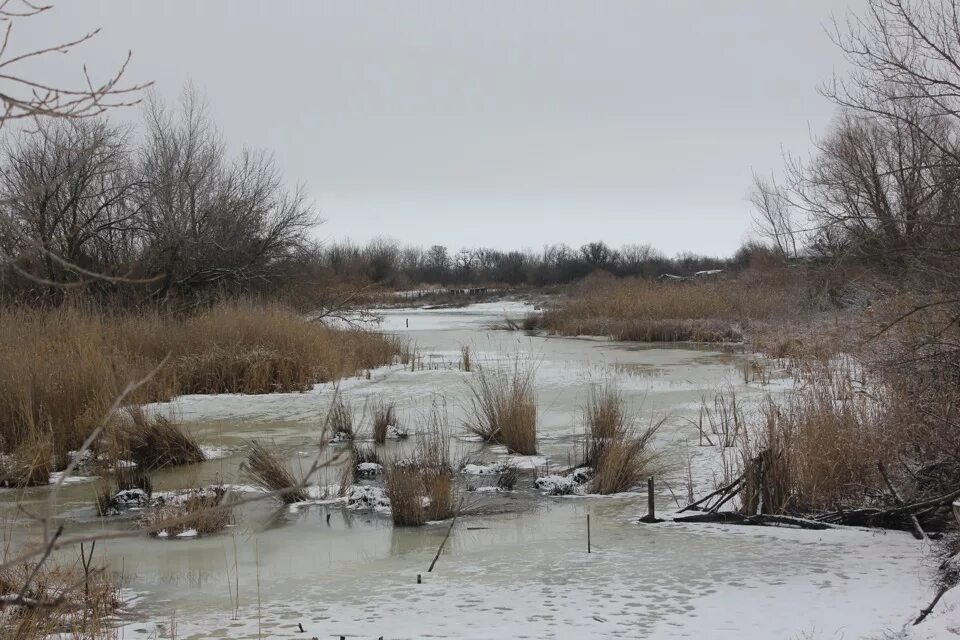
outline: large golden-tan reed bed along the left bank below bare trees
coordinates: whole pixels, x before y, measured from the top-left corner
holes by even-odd
[[[387,364],[396,339],[335,330],[269,304],[225,303],[188,317],[92,308],[0,311],[0,452],[63,468],[131,380],[170,360],[130,398],[300,391]],[[19,474],[23,476],[23,474]],[[21,480],[23,478],[21,477]],[[45,480],[43,480],[45,481]]]

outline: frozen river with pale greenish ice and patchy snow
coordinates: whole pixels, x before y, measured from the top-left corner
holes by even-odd
[[[699,446],[688,420],[701,400],[733,391],[749,412],[789,386],[776,376],[767,386],[745,383],[747,356],[727,351],[491,328],[529,311],[499,302],[385,312],[382,330],[407,336],[425,368],[375,370],[370,379],[345,381],[340,392],[358,419],[376,398],[395,402],[412,430],[432,406],[443,406],[454,454],[492,462],[506,452],[463,435],[465,380],[475,374],[459,370],[461,348],[470,347],[474,365],[532,363],[541,456],[526,462],[545,471],[579,452],[578,411],[591,384],[615,380],[641,422],[667,418],[656,441],[663,515],[685,501],[688,478],[698,494],[722,479],[723,452]],[[302,394],[186,396],[155,406],[220,455],[159,474],[155,486],[242,483],[242,443],[252,437],[281,448],[295,467],[308,465],[333,393],[332,385],[318,385]],[[735,454],[725,455],[729,463]],[[331,470],[320,482],[335,484],[337,476]],[[60,509],[72,531],[130,526],[97,518],[92,493],[92,483],[65,489]],[[401,529],[382,513],[267,500],[246,505],[225,534],[116,540],[98,545],[98,557],[122,571],[136,594],[127,638],[883,637],[929,598],[925,549],[909,534],[643,525],[645,495],[549,497],[532,477],[512,493],[476,495],[488,515],[460,518],[429,574],[447,523]],[[29,507],[43,490],[27,498]]]

